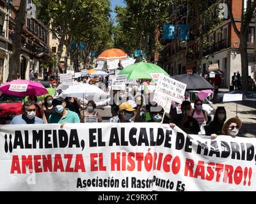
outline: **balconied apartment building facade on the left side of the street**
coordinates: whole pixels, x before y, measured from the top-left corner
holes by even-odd
[[[33,69],[35,72],[38,72],[38,79],[42,79],[44,77],[44,69],[42,64],[44,64],[44,62],[51,57],[51,49],[49,48],[49,27],[47,27],[42,20],[36,18],[36,8],[33,0],[26,1],[26,23],[22,30],[22,50],[20,54],[19,75],[20,79],[29,79],[29,70]],[[13,0],[12,4],[16,9],[18,9],[20,0]],[[7,61],[9,61],[10,54],[12,54],[12,37],[15,28],[15,13],[8,9],[8,4],[6,4],[6,1],[4,5],[6,6],[5,23],[7,26],[7,33],[5,34],[5,37],[8,43],[8,57],[6,57],[6,64],[4,64],[3,68],[2,83],[6,82],[8,78],[9,66]]]

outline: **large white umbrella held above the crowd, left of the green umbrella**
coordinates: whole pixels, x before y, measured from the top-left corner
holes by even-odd
[[[107,97],[108,94],[102,91],[99,87],[90,84],[79,84],[79,85],[72,85],[68,87],[65,91],[63,91],[60,96],[63,98],[65,97],[76,97],[76,98],[88,98],[88,96],[97,96],[100,98]]]

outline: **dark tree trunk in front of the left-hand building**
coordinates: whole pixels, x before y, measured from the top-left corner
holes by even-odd
[[[19,10],[15,11],[15,28],[12,38],[12,55],[9,63],[9,75],[7,81],[17,79],[20,68],[21,34],[25,24],[25,12],[27,1],[20,1]],[[19,73],[21,75],[21,73]]]

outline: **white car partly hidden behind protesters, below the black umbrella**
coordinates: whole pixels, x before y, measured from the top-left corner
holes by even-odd
[[[194,103],[195,100],[198,99],[197,94],[199,93],[199,91],[186,91],[186,100],[191,102],[191,106],[192,108],[194,108]],[[209,125],[209,123],[214,119],[214,114],[215,114],[215,109],[212,107],[212,102],[209,101],[207,98],[205,98],[203,101],[203,110],[207,113],[207,124]]]

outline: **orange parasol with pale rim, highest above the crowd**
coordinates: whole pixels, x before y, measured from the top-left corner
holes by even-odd
[[[112,48],[109,50],[105,50],[102,52],[102,54],[99,55],[98,61],[110,61],[110,60],[122,60],[122,59],[127,59],[129,56],[120,49]]]

